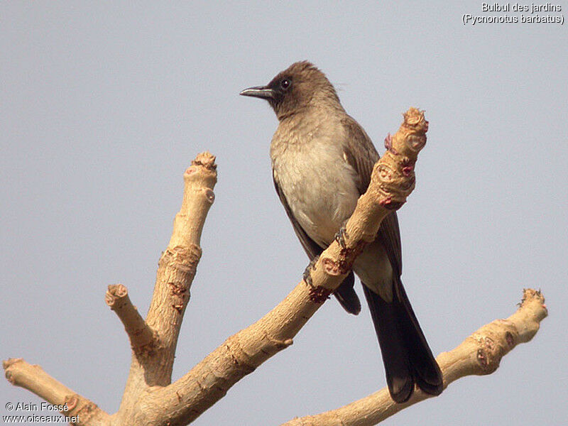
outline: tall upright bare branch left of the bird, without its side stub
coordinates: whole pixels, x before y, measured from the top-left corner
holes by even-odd
[[[184,192],[180,212],[175,215],[173,234],[158,263],[154,293],[146,324],[158,338],[151,351],[133,351],[129,378],[119,408],[119,421],[130,422],[140,407],[141,394],[152,386],[171,383],[175,347],[183,314],[190,300],[190,287],[200,261],[199,246],[207,212],[214,202],[217,183],[215,157],[197,155],[183,175]],[[132,423],[134,424],[134,423]],[[148,424],[148,423],[141,423]]]

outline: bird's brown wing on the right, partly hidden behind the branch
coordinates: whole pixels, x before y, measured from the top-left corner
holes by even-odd
[[[346,141],[344,143],[345,158],[347,162],[357,172],[357,188],[360,194],[364,194],[371,182],[373,166],[380,156],[371,142],[371,138],[351,116],[347,116],[343,123],[346,130]],[[388,254],[391,266],[400,275],[403,271],[403,256],[400,245],[400,229],[396,212],[388,214],[378,229],[377,239],[379,239]]]

